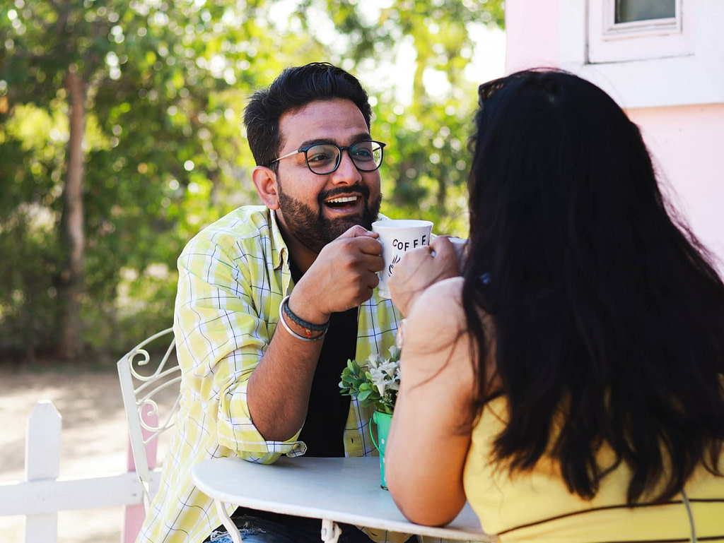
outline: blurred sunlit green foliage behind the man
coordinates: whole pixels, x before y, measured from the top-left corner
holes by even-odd
[[[63,280],[68,97],[88,90],[81,335],[113,359],[172,322],[183,245],[258,203],[241,129],[245,100],[286,66],[332,61],[358,75],[388,142],[383,212],[464,234],[476,85],[471,33],[503,24],[501,0],[9,0],[0,6],[0,351],[51,354]],[[412,101],[378,88],[403,44]],[[450,91],[432,97],[426,70]]]

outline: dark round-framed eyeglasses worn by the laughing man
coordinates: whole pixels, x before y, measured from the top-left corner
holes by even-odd
[[[334,143],[314,143],[275,158],[271,161],[271,164],[281,161],[282,158],[304,153],[309,171],[324,176],[332,174],[333,171],[340,167],[342,151],[346,150],[350,153],[350,158],[359,171],[375,171],[382,165],[382,155],[384,154],[382,150],[385,145],[387,144],[374,140],[363,140],[353,143],[349,147],[339,147]]]

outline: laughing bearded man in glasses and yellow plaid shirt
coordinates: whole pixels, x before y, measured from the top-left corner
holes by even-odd
[[[181,413],[139,541],[228,537],[190,479],[206,458],[371,454],[371,412],[337,386],[347,359],[387,352],[400,318],[374,291],[384,144],[370,119],[358,80],[330,64],[285,69],[252,96],[244,121],[264,206],[204,229],[178,260]],[[321,521],[241,509],[233,518],[245,543],[320,539]],[[340,542],[369,541],[343,527]]]

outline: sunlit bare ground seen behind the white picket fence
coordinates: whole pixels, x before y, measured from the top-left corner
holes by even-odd
[[[27,420],[40,400],[52,401],[63,418],[61,477],[126,471],[127,425],[115,366],[93,372],[0,367],[0,483],[25,478]],[[168,437],[159,443],[159,458]],[[61,511],[58,541],[119,542],[122,523],[121,506]],[[19,543],[24,537],[25,517],[0,516],[0,542]]]

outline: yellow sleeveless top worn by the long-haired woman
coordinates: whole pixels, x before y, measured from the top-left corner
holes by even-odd
[[[724,543],[724,477],[696,469],[683,493],[689,510],[683,495],[670,503],[628,508],[630,471],[622,463],[600,482],[592,500],[584,500],[568,492],[560,469],[548,457],[513,478],[492,466],[492,442],[505,427],[507,412],[505,397],[487,404],[473,429],[463,476],[481,526],[498,534],[501,543],[688,542],[693,540],[692,523],[699,542]],[[602,450],[598,458],[602,466],[613,463],[607,462],[613,459],[610,450]],[[719,465],[724,466],[724,458]]]

